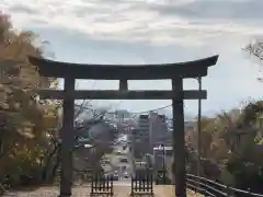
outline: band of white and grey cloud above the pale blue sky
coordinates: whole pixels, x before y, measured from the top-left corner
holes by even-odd
[[[100,39],[194,46],[215,39],[238,43],[261,34],[263,14],[254,8],[260,4],[259,0],[2,0],[0,9],[20,26],[66,27]]]

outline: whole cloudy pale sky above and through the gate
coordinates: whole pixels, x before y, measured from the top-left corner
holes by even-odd
[[[219,55],[203,88],[204,113],[263,95],[259,62],[241,48],[263,35],[262,0],[0,0],[15,27],[50,42],[57,60],[93,63],[176,62]],[[78,81],[79,89],[117,89],[117,82]],[[171,89],[170,81],[135,81],[130,89]],[[197,88],[186,80],[185,89]],[[145,111],[171,101],[108,101]],[[197,102],[185,102],[195,115]]]

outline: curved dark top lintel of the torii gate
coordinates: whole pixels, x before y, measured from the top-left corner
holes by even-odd
[[[174,78],[197,78],[207,76],[209,66],[216,65],[218,56],[187,62],[160,65],[83,65],[28,57],[38,66],[39,74],[52,78],[71,77],[94,80],[158,80]]]

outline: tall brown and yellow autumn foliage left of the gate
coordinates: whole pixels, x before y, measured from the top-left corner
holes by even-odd
[[[9,15],[0,14],[0,179],[35,175],[48,148],[45,131],[56,127],[56,104],[37,100],[37,90],[56,81],[41,78],[27,60],[43,55],[36,40],[33,32],[15,31]]]

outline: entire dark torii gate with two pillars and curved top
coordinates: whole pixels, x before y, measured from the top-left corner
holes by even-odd
[[[75,100],[172,100],[173,152],[175,164],[175,196],[186,197],[184,151],[184,100],[206,99],[206,91],[183,90],[183,79],[207,76],[209,66],[218,56],[188,62],[163,65],[80,65],[28,57],[39,69],[39,74],[64,78],[64,90],[41,90],[41,99],[64,100],[61,129],[61,183],[60,197],[71,196],[72,151],[75,146]],[[119,90],[75,90],[76,79],[119,80]],[[171,91],[129,91],[128,80],[171,79]]]

